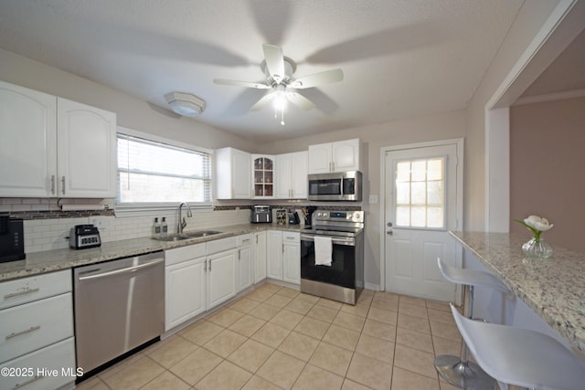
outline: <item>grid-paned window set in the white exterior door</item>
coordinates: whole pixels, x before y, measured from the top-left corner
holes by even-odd
[[[445,227],[445,158],[396,163],[397,227]]]

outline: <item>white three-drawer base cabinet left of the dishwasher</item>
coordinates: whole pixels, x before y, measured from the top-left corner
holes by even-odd
[[[6,281],[0,283],[0,294],[0,367],[8,370],[0,387],[30,390],[72,383],[71,271]]]

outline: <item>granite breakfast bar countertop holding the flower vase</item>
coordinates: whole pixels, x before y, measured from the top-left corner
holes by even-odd
[[[553,245],[548,259],[525,258],[521,247],[529,234],[451,234],[573,348],[585,353],[585,254]]]

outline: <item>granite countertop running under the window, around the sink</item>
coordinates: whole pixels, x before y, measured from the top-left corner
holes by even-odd
[[[87,264],[143,255],[157,250],[185,247],[187,245],[233,237],[264,230],[300,231],[300,225],[280,226],[276,224],[243,224],[230,227],[211,227],[205,230],[218,230],[221,233],[207,237],[188,238],[181,241],[158,241],[151,237],[124,239],[103,242],[101,247],[86,249],[55,249],[27,253],[24,260],[0,263],[0,281],[24,278],[61,269],[71,269]],[[195,229],[194,231],[197,231]],[[186,231],[188,233],[188,231]]]

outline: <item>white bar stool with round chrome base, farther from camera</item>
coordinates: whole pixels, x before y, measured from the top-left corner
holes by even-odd
[[[468,316],[473,319],[473,289],[475,286],[488,287],[500,290],[511,296],[512,292],[505,287],[500,279],[488,272],[473,269],[458,269],[443,263],[437,258],[437,264],[442,276],[457,284],[469,286]],[[462,346],[461,356],[442,354],[435,358],[435,369],[445,381],[463,389],[497,389],[497,382],[490,375],[485,374],[482,367],[469,361],[469,350],[465,343]]]

